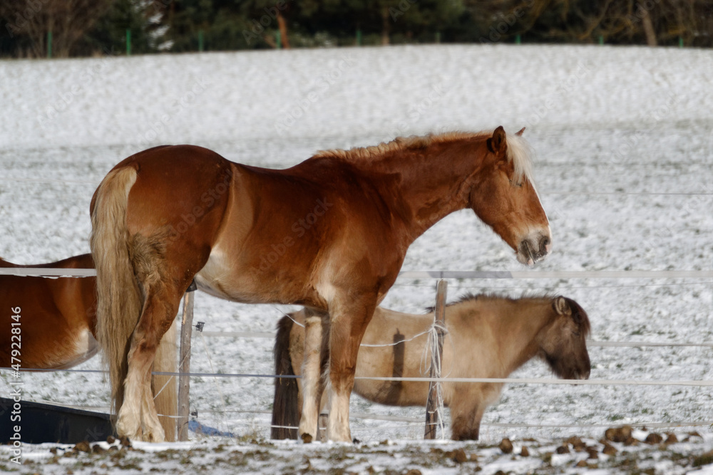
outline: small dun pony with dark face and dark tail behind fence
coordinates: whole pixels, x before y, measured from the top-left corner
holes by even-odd
[[[305,317],[302,310],[279,320],[276,375],[300,374]],[[433,323],[433,313],[410,315],[377,307],[361,340],[356,376],[428,376],[423,372],[423,357],[427,332]],[[570,298],[466,296],[446,307],[446,328],[450,342],[443,345],[444,377],[506,378],[533,357],[547,362],[558,377],[589,377],[585,343],[590,332],[589,318]],[[443,402],[451,408],[451,438],[477,440],[483,412],[498,399],[502,389],[502,382],[443,382]],[[356,379],[354,392],[379,404],[425,406],[429,383]],[[277,378],[272,406],[273,439],[297,439],[297,429],[287,427],[299,422],[301,405],[302,381]]]

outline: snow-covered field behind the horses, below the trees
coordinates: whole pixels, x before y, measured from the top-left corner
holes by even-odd
[[[237,162],[287,167],[324,148],[504,125],[509,132],[527,126],[553,230],[553,254],[533,273],[709,271],[711,75],[710,51],[603,46],[0,62],[0,256],[39,263],[87,252],[88,206],[96,185],[124,157],[153,145],[192,143]],[[472,212],[459,212],[411,246],[402,270],[523,267]],[[590,315],[594,343],[713,343],[712,279],[449,282],[449,299],[466,291],[549,291],[574,298]],[[420,312],[434,295],[435,281],[400,278],[383,305]],[[290,310],[202,293],[195,300],[195,320],[205,321],[209,332],[272,332]],[[193,371],[272,374],[270,338],[199,335]],[[710,380],[711,355],[704,346],[593,344],[591,378]],[[99,367],[95,359],[78,369]],[[549,374],[533,362],[513,377]],[[0,374],[1,394],[9,393],[8,380]],[[31,400],[89,407],[108,402],[108,387],[95,373],[25,374],[23,382]],[[198,420],[239,436],[269,435],[270,404],[270,378],[195,377],[191,383]],[[709,387],[512,384],[486,412],[481,439],[597,439],[615,424],[697,422],[703,423],[696,430],[704,438],[696,449],[711,449],[706,423],[713,422],[712,407]],[[419,421],[353,417],[353,436],[367,443],[423,434],[420,408],[377,407],[353,397],[352,413]]]

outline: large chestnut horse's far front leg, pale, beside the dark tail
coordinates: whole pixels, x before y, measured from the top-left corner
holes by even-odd
[[[309,308],[304,309],[304,357],[302,360],[302,417],[298,434],[309,444],[317,438],[319,401],[322,399],[322,360],[324,333],[329,331],[329,315]],[[326,323],[326,325],[325,325]],[[325,328],[327,326],[327,328]]]

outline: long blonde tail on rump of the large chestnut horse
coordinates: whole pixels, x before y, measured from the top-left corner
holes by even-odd
[[[111,408],[115,413],[124,399],[129,341],[143,306],[130,259],[126,224],[128,194],[135,181],[133,167],[109,172],[94,194],[91,214],[89,244],[96,266],[96,333],[103,362],[109,367]]]

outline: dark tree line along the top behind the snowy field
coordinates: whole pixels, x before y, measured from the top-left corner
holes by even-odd
[[[0,56],[404,43],[713,46],[709,0],[4,0]]]

